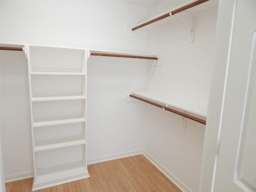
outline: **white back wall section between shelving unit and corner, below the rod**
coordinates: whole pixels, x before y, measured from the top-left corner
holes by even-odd
[[[89,59],[89,159],[143,148],[143,103],[126,102],[123,92],[144,88],[147,62],[92,56]]]

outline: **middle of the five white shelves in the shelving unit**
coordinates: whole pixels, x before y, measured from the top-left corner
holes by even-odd
[[[50,125],[61,125],[70,123],[86,122],[85,118],[72,118],[72,119],[62,119],[62,120],[49,120],[49,121],[36,121],[34,122],[34,127],[50,126]]]

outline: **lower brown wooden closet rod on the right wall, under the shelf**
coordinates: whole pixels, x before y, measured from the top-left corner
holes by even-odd
[[[169,108],[169,107],[166,107],[166,106],[163,106],[163,105],[154,103],[154,102],[152,102],[152,101],[149,101],[149,100],[146,100],[146,99],[143,99],[143,98],[134,96],[134,95],[132,95],[132,94],[130,94],[130,97],[136,98],[136,99],[138,99],[138,100],[144,101],[144,102],[149,103],[149,104],[152,104],[152,105],[157,106],[157,107],[159,107],[159,108],[162,108],[162,109],[164,109],[164,110],[167,110],[167,111],[176,113],[176,114],[178,114],[178,115],[180,115],[180,116],[186,117],[186,118],[188,118],[188,119],[194,120],[194,121],[199,122],[199,123],[202,123],[202,124],[204,124],[204,125],[206,124],[206,121],[205,121],[205,120],[202,120],[202,119],[200,119],[200,118],[194,117],[194,116],[192,116],[192,115],[189,115],[189,114],[186,114],[186,113],[183,113],[183,112],[174,110],[174,109],[172,109],[172,108]]]

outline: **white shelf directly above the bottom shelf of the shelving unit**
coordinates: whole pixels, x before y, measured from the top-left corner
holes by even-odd
[[[82,136],[35,141],[35,152],[86,144]]]

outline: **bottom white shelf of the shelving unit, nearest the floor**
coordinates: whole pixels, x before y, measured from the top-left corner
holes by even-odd
[[[72,162],[48,168],[41,168],[37,170],[38,175],[36,182],[63,178],[65,176],[79,174],[81,172],[87,172],[83,161]]]

